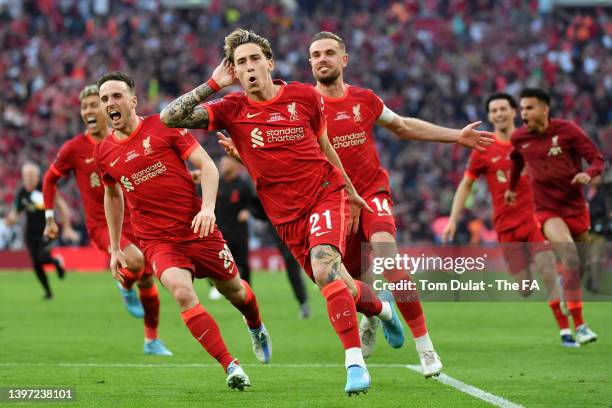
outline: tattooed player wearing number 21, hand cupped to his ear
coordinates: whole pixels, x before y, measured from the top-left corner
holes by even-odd
[[[170,127],[224,128],[233,136],[231,149],[251,175],[268,218],[326,299],[345,349],[345,391],[359,394],[369,388],[370,376],[357,309],[380,315],[395,347],[403,343],[403,329],[388,302],[343,270],[346,232],[358,222],[361,207],[369,207],[329,143],[320,96],[305,84],[273,81],[273,69],[269,41],[237,29],[225,38],[225,59],[212,78],[171,102],[162,121]],[[200,105],[236,79],[244,92]],[[230,148],[229,139],[221,142]]]

